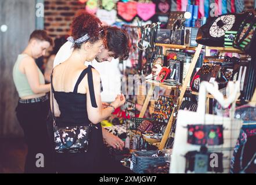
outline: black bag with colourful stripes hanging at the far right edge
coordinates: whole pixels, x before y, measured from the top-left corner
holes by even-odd
[[[251,11],[241,23],[237,35],[233,41],[233,47],[244,51],[251,57],[256,56],[256,13]]]

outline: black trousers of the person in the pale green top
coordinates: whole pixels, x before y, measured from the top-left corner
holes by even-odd
[[[49,99],[44,102],[18,103],[16,115],[28,146],[25,173],[55,173],[53,150],[46,127]]]

